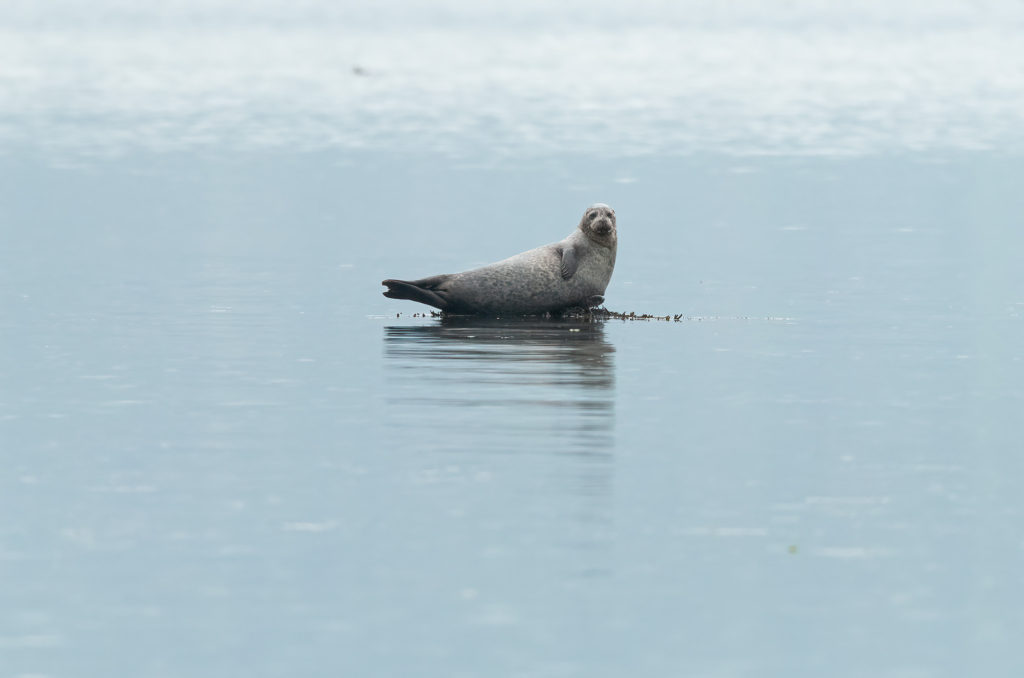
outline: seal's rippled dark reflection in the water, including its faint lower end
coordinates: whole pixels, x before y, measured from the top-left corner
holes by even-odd
[[[580,575],[600,575],[595,549],[610,546],[615,472],[615,347],[605,326],[453,315],[383,328],[391,452],[381,472],[422,468],[424,481],[446,488],[429,497],[452,498],[463,529],[493,521],[489,535],[505,534],[509,511],[528,498],[525,524],[555,521],[558,548],[580,550],[569,560]],[[407,452],[409,463],[395,461]]]

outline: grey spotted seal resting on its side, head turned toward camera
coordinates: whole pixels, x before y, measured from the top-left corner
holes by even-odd
[[[450,313],[544,313],[597,306],[615,267],[615,211],[591,205],[565,240],[461,273],[386,280],[385,297]]]

